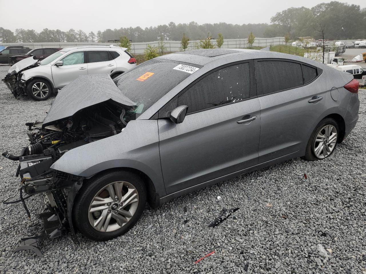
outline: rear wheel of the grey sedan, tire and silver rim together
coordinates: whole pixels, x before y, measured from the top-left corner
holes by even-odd
[[[338,137],[337,122],[332,118],[322,119],[311,133],[304,159],[316,161],[329,157],[336,149]]]

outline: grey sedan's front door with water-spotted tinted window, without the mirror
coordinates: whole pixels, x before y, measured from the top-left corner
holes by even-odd
[[[252,64],[234,64],[209,73],[159,112],[167,194],[257,164],[260,106],[251,81]],[[180,105],[188,106],[183,123],[161,119]]]

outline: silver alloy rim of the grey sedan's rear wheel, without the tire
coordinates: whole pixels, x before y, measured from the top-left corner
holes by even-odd
[[[337,142],[337,129],[333,125],[323,126],[317,133],[313,149],[315,156],[324,159],[334,150]]]

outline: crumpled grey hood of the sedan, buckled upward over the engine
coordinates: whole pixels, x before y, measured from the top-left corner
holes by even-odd
[[[79,76],[59,91],[43,121],[42,128],[56,121],[71,117],[79,110],[85,109],[107,100],[113,100],[125,106],[135,106],[117,88],[107,74]]]

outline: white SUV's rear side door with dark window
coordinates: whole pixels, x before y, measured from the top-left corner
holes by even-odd
[[[89,50],[87,57],[88,74],[110,75],[117,67],[116,61],[112,60],[112,56],[107,50]]]

